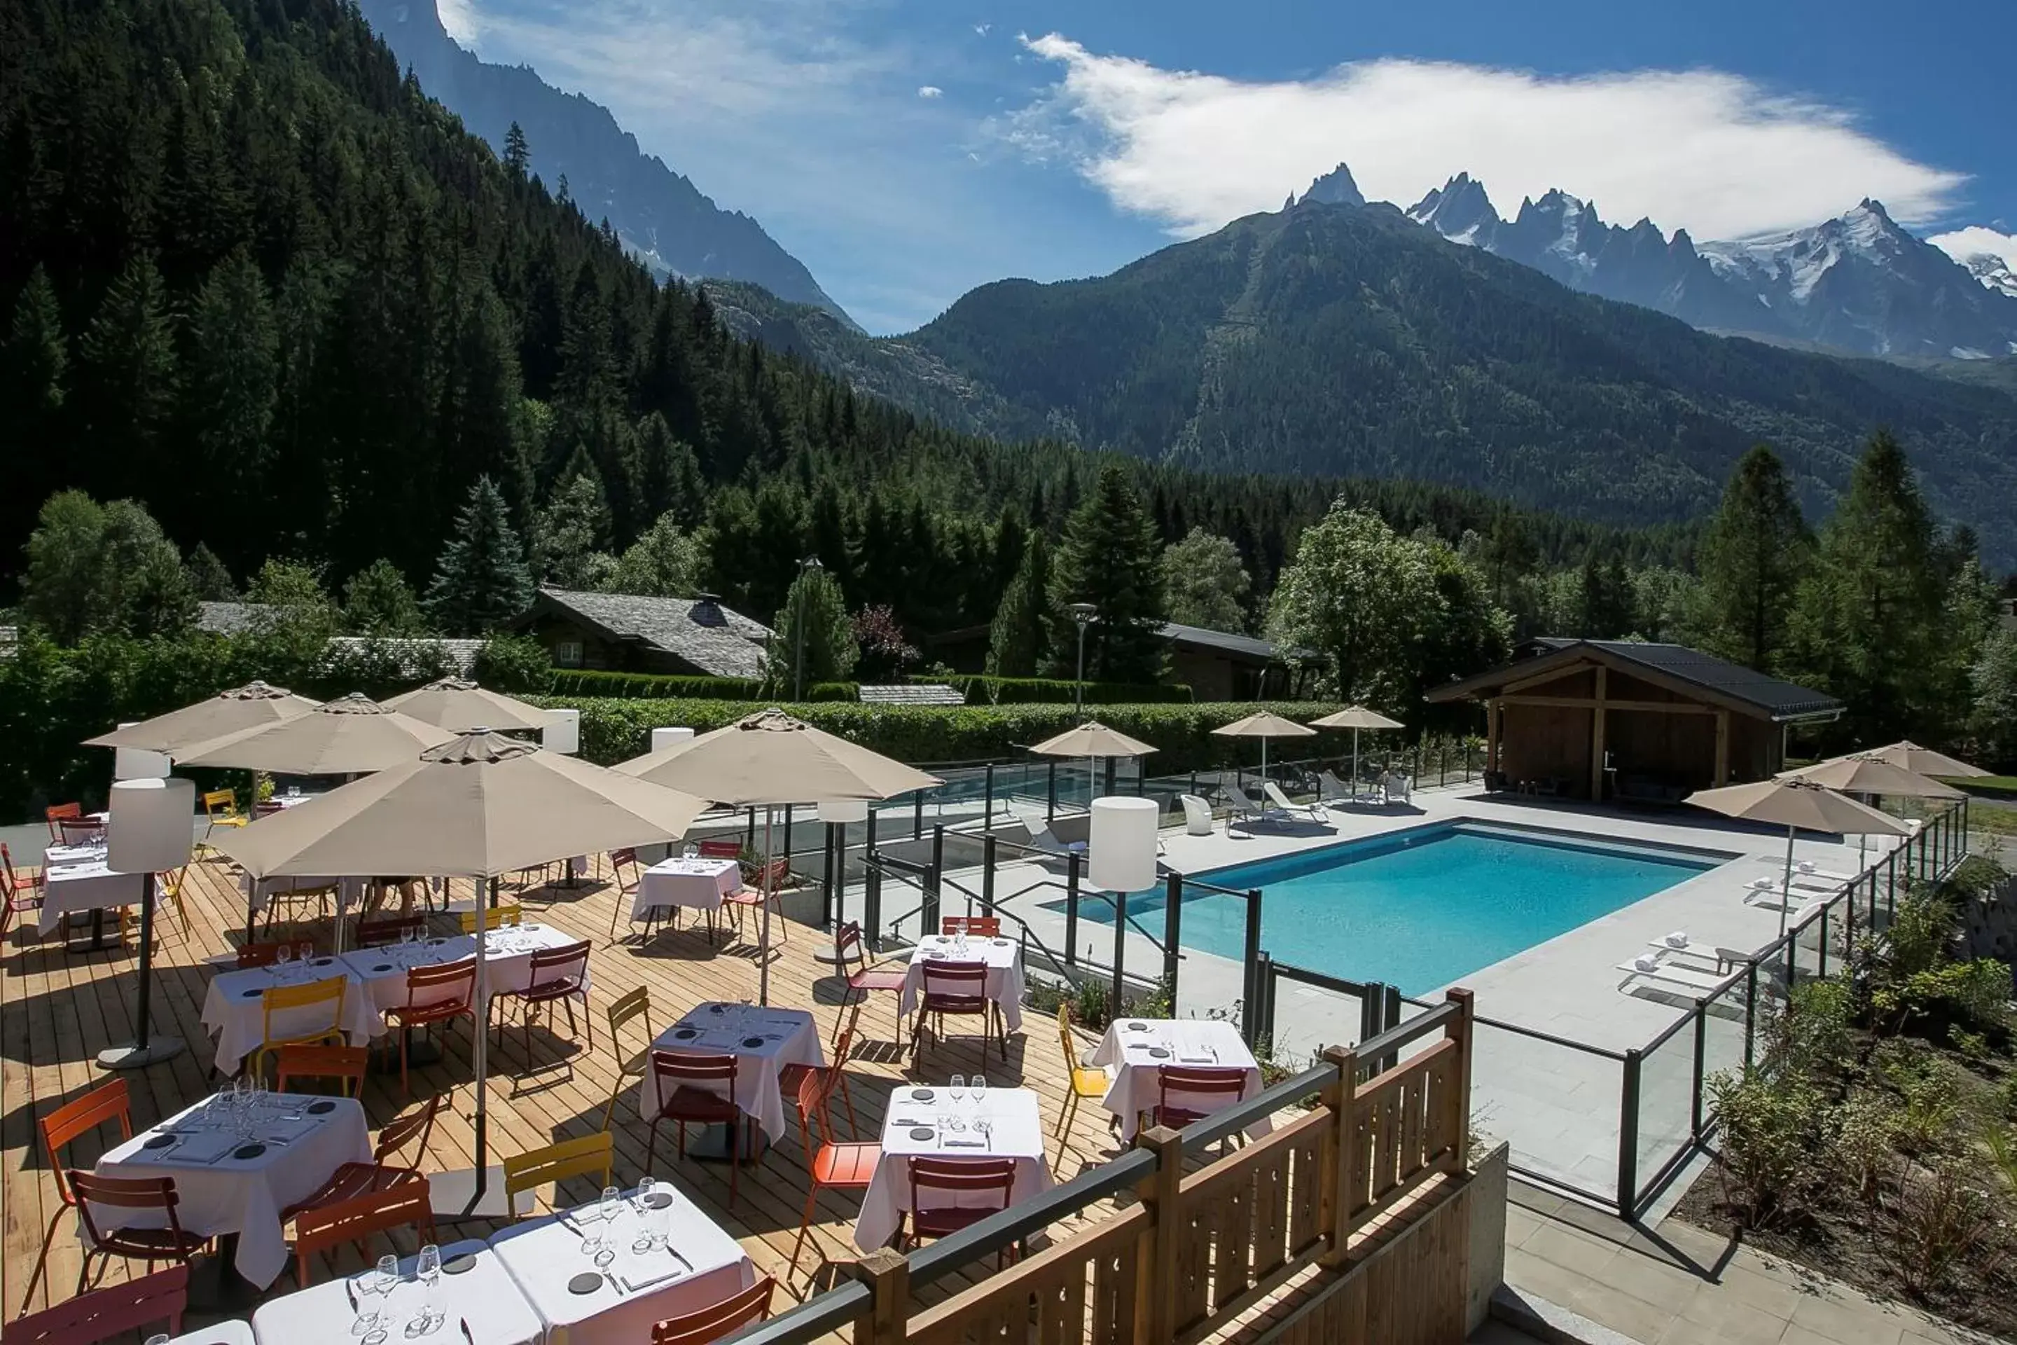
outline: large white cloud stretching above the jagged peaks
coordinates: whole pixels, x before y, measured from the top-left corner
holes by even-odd
[[[1119,208],[1172,234],[1273,210],[1339,161],[1368,200],[1416,202],[1456,171],[1511,214],[1563,188],[1606,218],[1696,238],[1799,228],[1864,196],[1902,222],[1944,212],[1963,173],[1916,163],[1835,107],[1718,71],[1557,79],[1368,60],[1247,83],[1023,38],[1063,81],[996,125],[1037,159],[1067,157]]]

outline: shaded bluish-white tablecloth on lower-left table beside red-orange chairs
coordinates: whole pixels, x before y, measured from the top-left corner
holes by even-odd
[[[99,1159],[105,1178],[173,1178],[180,1204],[175,1218],[184,1232],[216,1236],[238,1234],[238,1274],[258,1287],[272,1285],[286,1268],[288,1250],[280,1230],[280,1210],[317,1192],[343,1164],[371,1161],[371,1133],[365,1109],[349,1097],[280,1095],[280,1105],[254,1127],[254,1137],[266,1139],[258,1157],[230,1157],[236,1135],[206,1129],[198,1115],[202,1103],[182,1111],[159,1127],[133,1135]],[[335,1103],[323,1115],[307,1115],[301,1107]],[[299,1115],[299,1121],[290,1121]],[[161,1131],[188,1131],[182,1143],[147,1149],[145,1143]],[[284,1139],[284,1143],[276,1143]],[[222,1153],[216,1161],[200,1161]],[[121,1218],[119,1210],[93,1210],[101,1228],[153,1226],[159,1216]],[[83,1224],[79,1222],[79,1236]]]

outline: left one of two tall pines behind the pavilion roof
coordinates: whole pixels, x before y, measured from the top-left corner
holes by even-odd
[[[1813,559],[1813,534],[1793,478],[1765,444],[1737,464],[1702,538],[1702,599],[1710,651],[1761,671],[1785,657],[1793,597]]]

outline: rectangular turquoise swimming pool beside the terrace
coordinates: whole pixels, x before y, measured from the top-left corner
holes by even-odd
[[[1438,823],[1194,877],[1265,893],[1261,948],[1277,962],[1424,994],[1725,859],[1519,827]],[[1065,909],[1061,899],[1045,905]],[[1162,938],[1162,889],[1130,895],[1128,913]],[[1105,897],[1081,895],[1079,918],[1111,924],[1113,907]],[[1240,962],[1244,897],[1186,895],[1182,942]]]

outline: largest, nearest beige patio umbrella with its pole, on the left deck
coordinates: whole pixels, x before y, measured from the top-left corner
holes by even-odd
[[[680,837],[706,805],[591,762],[494,732],[450,738],[403,764],[266,817],[220,843],[254,877],[272,873],[413,873],[488,883],[583,851]],[[478,907],[482,903],[478,901]],[[480,924],[480,922],[478,922]],[[484,940],[476,940],[482,984]],[[490,1034],[474,1034],[476,1174],[460,1212],[488,1182],[486,1069]],[[452,1192],[456,1182],[440,1190]],[[458,1194],[456,1194],[458,1196]],[[438,1210],[448,1204],[438,1200]]]

